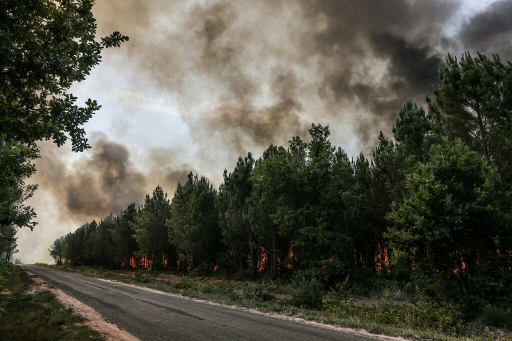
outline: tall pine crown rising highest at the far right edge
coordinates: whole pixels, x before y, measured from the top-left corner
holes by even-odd
[[[512,64],[465,53],[448,56],[439,70],[430,111],[442,121],[444,134],[461,138],[472,150],[493,159],[512,180]]]

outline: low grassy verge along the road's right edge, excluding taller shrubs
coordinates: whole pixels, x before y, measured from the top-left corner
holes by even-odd
[[[66,271],[79,272],[85,275],[97,276],[129,284],[158,289],[169,293],[181,294],[195,299],[232,305],[241,308],[255,309],[265,313],[276,313],[285,316],[301,317],[308,321],[320,322],[344,328],[366,330],[371,333],[389,336],[401,336],[425,340],[512,340],[500,330],[489,330],[478,322],[462,326],[457,331],[439,330],[434,327],[418,327],[414,318],[399,318],[399,314],[408,312],[400,304],[410,304],[404,299],[404,293],[397,284],[383,286],[377,292],[378,299],[365,299],[364,304],[353,304],[354,310],[348,312],[315,310],[307,305],[298,305],[295,296],[297,290],[289,283],[261,281],[233,281],[219,277],[203,277],[184,275],[176,271],[147,271],[139,270],[107,270],[86,266],[52,266]],[[300,291],[300,290],[298,290]],[[324,300],[325,301],[325,300]],[[358,300],[354,300],[358,301]],[[401,303],[400,303],[401,302]],[[314,307],[314,305],[313,305]],[[418,313],[416,308],[416,313]],[[378,310],[380,309],[380,310]],[[426,307],[424,314],[428,319]],[[396,313],[397,318],[382,318],[382,311]],[[421,313],[421,311],[420,311]],[[376,318],[376,316],[378,318]],[[385,317],[385,316],[384,316]],[[442,317],[442,316],[441,316]],[[425,317],[423,317],[425,319]],[[389,321],[388,321],[389,320]]]

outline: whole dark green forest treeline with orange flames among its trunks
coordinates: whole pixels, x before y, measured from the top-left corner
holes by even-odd
[[[371,272],[425,292],[510,297],[512,65],[449,56],[439,79],[428,111],[406,103],[371,158],[350,159],[329,126],[312,124],[307,141],[240,157],[218,189],[190,173],[171,200],[157,186],[50,253],[72,265],[301,273],[326,286]]]

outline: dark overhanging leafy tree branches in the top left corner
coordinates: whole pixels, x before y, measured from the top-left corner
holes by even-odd
[[[73,151],[88,148],[81,127],[100,105],[75,104],[73,82],[86,78],[104,48],[128,37],[114,32],[95,40],[94,0],[6,0],[0,4],[0,144],[32,145],[71,139]]]

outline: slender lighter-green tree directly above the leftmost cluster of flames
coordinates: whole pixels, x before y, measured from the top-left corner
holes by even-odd
[[[131,225],[139,244],[139,253],[151,260],[152,269],[164,267],[163,256],[169,249],[166,226],[169,214],[167,194],[158,185],[153,190],[153,196],[146,195],[144,205],[136,216],[135,223]]]

